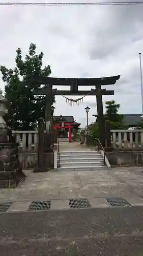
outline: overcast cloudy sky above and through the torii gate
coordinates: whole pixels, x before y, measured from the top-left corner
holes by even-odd
[[[104,96],[103,102],[115,100],[121,104],[120,113],[140,114],[138,53],[142,52],[143,67],[142,10],[143,5],[0,6],[0,65],[13,68],[16,48],[20,47],[24,56],[33,42],[37,52],[44,53],[43,66],[51,66],[51,76],[80,78],[120,74],[115,86],[106,87],[115,90],[115,95]],[[1,76],[0,79],[4,91],[5,84]],[[96,96],[87,96],[83,104],[74,107],[57,96],[55,114],[73,115],[84,126],[87,105],[91,108],[92,122],[95,120],[92,115],[97,114]]]

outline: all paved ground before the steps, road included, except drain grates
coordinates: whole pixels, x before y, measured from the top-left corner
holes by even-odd
[[[22,184],[1,189],[0,203],[12,204],[0,213],[0,256],[142,256],[141,171],[25,171]],[[132,206],[112,207],[109,197]],[[91,208],[69,209],[72,198],[88,198]],[[50,210],[27,211],[34,200],[50,200]]]

